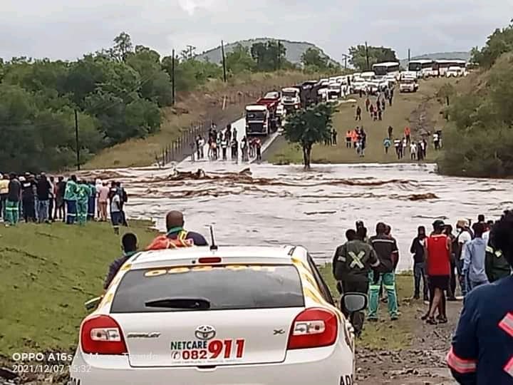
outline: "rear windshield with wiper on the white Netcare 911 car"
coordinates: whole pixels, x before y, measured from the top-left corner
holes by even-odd
[[[184,301],[201,303],[201,310],[304,307],[294,265],[225,265],[131,270],[121,280],[110,312],[195,310],[175,305]]]

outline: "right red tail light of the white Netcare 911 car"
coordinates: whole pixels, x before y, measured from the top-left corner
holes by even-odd
[[[321,308],[306,309],[292,324],[287,349],[310,349],[333,345],[338,334],[338,319]]]

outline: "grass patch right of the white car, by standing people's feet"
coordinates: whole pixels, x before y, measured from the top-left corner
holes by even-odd
[[[321,274],[330,287],[333,295],[338,292],[336,280],[331,274],[331,264],[321,267]],[[396,276],[398,290],[399,311],[401,313],[398,321],[391,322],[388,317],[387,304],[380,303],[378,316],[381,321],[376,323],[365,322],[363,333],[357,344],[369,349],[404,349],[410,346],[411,337],[418,327],[418,319],[415,319],[418,307],[421,302],[410,301],[413,296],[413,275],[410,273],[398,274]]]

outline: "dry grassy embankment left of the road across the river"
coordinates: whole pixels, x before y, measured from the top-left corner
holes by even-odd
[[[227,83],[212,80],[201,88],[184,96],[177,96],[176,106],[165,108],[160,131],[144,139],[128,140],[125,143],[107,148],[96,155],[86,165],[92,168],[120,168],[151,165],[155,154],[162,147],[179,137],[182,130],[204,119],[213,119],[218,125],[231,123],[242,116],[244,105],[252,103],[255,93],[271,91],[274,87],[291,86],[300,81],[320,78],[318,74],[300,71],[277,71],[273,73],[252,73],[237,76]],[[227,96],[227,106],[222,110],[223,99]],[[229,101],[232,101],[230,103]]]

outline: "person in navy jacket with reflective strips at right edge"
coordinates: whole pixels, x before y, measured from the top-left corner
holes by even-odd
[[[490,238],[513,266],[513,211],[494,224]],[[452,337],[447,364],[459,384],[513,384],[513,277],[472,290]]]

